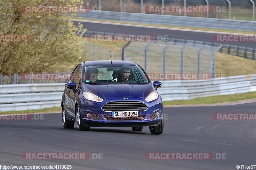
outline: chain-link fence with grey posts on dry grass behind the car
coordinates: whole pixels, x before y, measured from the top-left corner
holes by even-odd
[[[209,74],[214,78],[215,53],[221,47],[174,41],[131,42],[124,47],[123,58],[140,64],[148,73]]]

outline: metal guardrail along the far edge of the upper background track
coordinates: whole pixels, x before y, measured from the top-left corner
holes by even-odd
[[[113,11],[80,13],[79,17],[114,20],[123,22],[147,23],[156,25],[191,26],[202,28],[256,31],[256,22],[218,18],[184,17],[172,15],[141,14]]]

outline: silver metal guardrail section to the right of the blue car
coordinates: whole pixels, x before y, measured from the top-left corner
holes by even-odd
[[[164,81],[163,87],[157,91],[161,94],[163,101],[255,92],[256,74],[211,80]]]

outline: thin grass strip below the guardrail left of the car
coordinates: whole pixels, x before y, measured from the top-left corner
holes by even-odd
[[[51,107],[51,108],[44,108],[44,109],[33,109],[33,110],[20,110],[20,111],[6,111],[0,112],[1,114],[22,114],[22,113],[61,113],[61,107]]]

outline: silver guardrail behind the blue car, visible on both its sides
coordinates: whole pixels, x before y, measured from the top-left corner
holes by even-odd
[[[0,111],[60,106],[64,83],[0,85]],[[164,101],[256,91],[256,74],[211,80],[164,81],[157,90]]]

